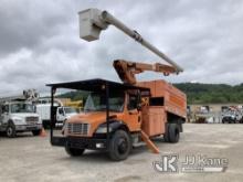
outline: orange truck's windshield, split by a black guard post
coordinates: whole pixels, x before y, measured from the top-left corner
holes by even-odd
[[[124,94],[112,94],[109,96],[109,110],[123,111]],[[104,111],[106,110],[106,97],[104,94],[92,93],[88,95],[84,111]]]

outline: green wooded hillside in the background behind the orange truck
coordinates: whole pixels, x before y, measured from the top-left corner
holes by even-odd
[[[187,94],[188,104],[243,103],[243,84],[231,86],[226,84],[180,83],[173,85]],[[59,97],[85,101],[87,95],[87,92],[78,90],[65,93]]]

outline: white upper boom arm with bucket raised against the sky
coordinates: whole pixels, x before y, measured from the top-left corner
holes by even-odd
[[[148,41],[146,41],[137,31],[129,29],[123,22],[117,20],[107,11],[101,11],[98,9],[87,9],[80,13],[80,36],[86,41],[95,41],[99,39],[102,30],[106,30],[109,24],[113,24],[125,34],[139,42],[141,45],[150,50],[152,53],[165,60],[172,65],[175,73],[179,74],[183,72],[183,68],[169,58],[165,53],[159,51]]]

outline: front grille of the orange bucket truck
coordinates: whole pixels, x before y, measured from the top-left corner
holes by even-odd
[[[89,124],[68,124],[67,131],[70,135],[87,136],[89,130]]]

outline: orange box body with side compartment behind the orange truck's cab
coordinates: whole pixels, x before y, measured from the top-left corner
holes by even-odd
[[[186,120],[187,98],[181,90],[165,81],[141,82],[137,85],[150,88],[149,103],[141,110],[141,129],[149,137],[165,133],[168,114]]]

